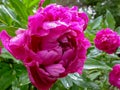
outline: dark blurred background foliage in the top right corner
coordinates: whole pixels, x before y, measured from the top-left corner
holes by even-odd
[[[98,15],[104,15],[106,9],[108,9],[116,20],[116,25],[119,24],[120,19],[120,0],[80,0],[83,6],[91,6],[96,11],[96,17]]]

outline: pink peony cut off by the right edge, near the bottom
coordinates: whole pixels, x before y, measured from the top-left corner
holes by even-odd
[[[116,64],[109,73],[109,82],[111,85],[120,88],[120,64]]]

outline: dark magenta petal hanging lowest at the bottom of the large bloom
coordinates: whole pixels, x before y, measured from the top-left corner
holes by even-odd
[[[27,66],[27,70],[32,84],[39,90],[49,90],[56,81],[56,78],[49,77],[49,75],[43,69],[40,69],[37,64]]]

